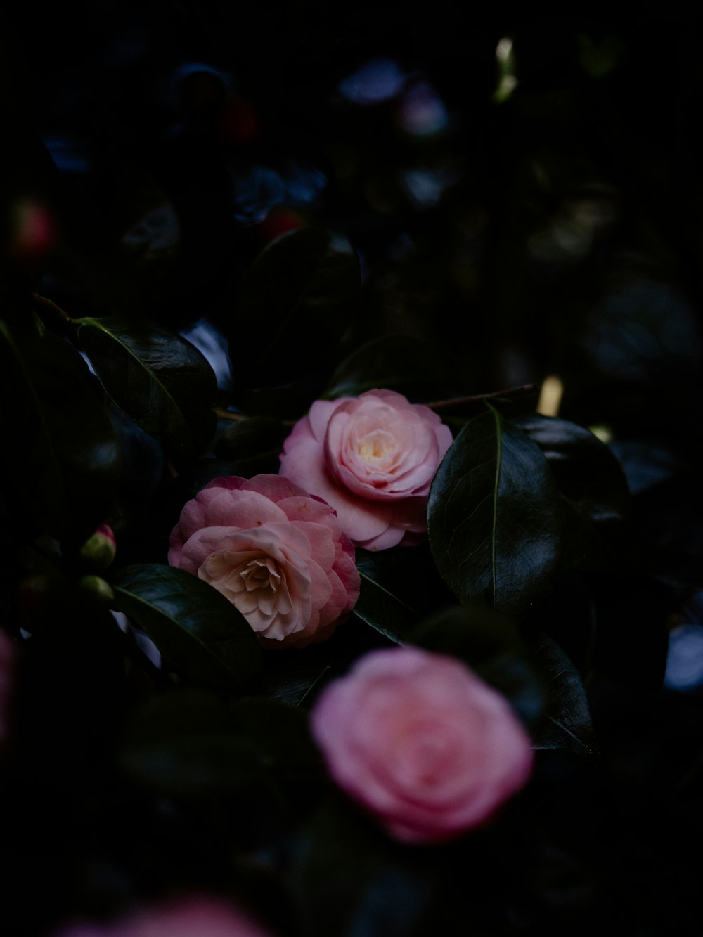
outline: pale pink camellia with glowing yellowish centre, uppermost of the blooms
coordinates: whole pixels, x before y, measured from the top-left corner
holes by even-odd
[[[452,444],[448,426],[395,391],[318,400],[283,444],[279,472],[337,511],[357,546],[420,543],[427,495]]]

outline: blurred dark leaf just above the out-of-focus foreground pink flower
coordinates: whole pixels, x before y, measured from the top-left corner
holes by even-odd
[[[512,621],[487,605],[457,606],[424,619],[408,632],[411,644],[452,654],[507,697],[533,725],[542,715],[546,685]]]

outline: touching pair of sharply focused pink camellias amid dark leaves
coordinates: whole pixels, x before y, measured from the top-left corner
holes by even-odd
[[[219,478],[187,502],[169,563],[227,596],[262,641],[322,641],[359,595],[352,544],[426,536],[429,485],[451,442],[437,414],[395,391],[318,400],[278,475]]]

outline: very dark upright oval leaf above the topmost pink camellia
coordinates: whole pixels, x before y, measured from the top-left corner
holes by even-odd
[[[232,320],[236,383],[285,384],[331,366],[360,287],[351,245],[330,231],[301,228],[267,245],[242,280]]]

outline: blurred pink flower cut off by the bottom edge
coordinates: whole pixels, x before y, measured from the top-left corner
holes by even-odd
[[[272,937],[230,902],[210,896],[162,901],[108,924],[74,924],[52,937]]]

